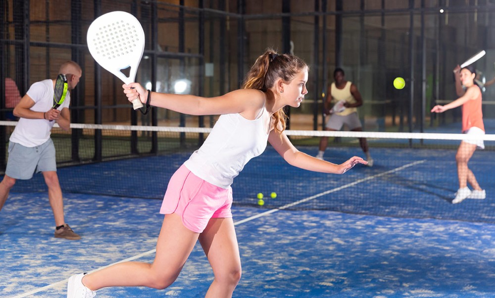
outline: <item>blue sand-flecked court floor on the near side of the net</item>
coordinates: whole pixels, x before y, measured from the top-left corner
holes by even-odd
[[[150,262],[155,199],[65,195],[80,241],[53,238],[45,193],[0,212],[0,297],[65,297],[69,276],[124,259]],[[234,207],[243,277],[234,297],[495,297],[495,225]],[[257,215],[257,216],[256,216]],[[108,288],[98,298],[202,297],[213,279],[198,245],[168,289]]]

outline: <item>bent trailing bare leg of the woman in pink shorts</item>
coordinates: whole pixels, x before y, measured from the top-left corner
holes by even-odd
[[[152,264],[124,262],[87,274],[83,284],[96,291],[105,287],[149,287],[165,289],[170,286],[193,250],[198,233],[184,227],[181,216],[167,214],[163,219]]]

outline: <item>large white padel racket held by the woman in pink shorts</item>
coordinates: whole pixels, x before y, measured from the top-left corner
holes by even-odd
[[[145,32],[138,19],[124,11],[112,11],[95,19],[88,28],[88,49],[101,67],[125,84],[134,82],[145,50]],[[122,70],[130,67],[129,76]],[[143,106],[132,101],[136,110]]]

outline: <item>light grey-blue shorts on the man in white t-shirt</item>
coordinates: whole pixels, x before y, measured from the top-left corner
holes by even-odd
[[[55,146],[49,139],[36,147],[25,147],[10,142],[8,144],[8,159],[5,175],[14,179],[27,180],[39,172],[56,171]]]

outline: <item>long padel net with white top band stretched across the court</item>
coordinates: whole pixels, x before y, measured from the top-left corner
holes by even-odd
[[[7,140],[15,122],[0,122]],[[72,124],[52,130],[64,193],[161,199],[174,171],[198,149],[209,128]],[[290,131],[296,147],[316,155],[329,137],[325,160],[342,163],[364,154],[366,138],[374,166],[357,165],[344,175],[290,166],[267,147],[235,179],[234,203],[279,209],[322,209],[380,216],[439,218],[495,223],[495,135],[446,133]],[[483,138],[469,161],[486,199],[452,204],[458,189],[456,153],[461,141]],[[6,143],[4,143],[6,144]],[[5,146],[6,148],[6,146]],[[7,152],[3,154],[3,168]],[[220,153],[219,153],[220,154]],[[42,175],[18,181],[12,192],[46,191]],[[258,194],[263,194],[259,205]],[[270,194],[276,193],[276,198]]]

